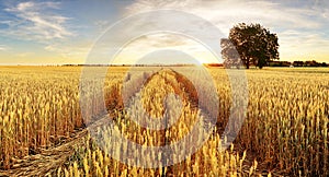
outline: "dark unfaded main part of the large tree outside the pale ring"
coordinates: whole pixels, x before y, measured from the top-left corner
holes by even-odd
[[[251,63],[261,69],[269,61],[279,59],[276,34],[270,33],[260,24],[239,23],[230,30],[228,38],[247,69]]]

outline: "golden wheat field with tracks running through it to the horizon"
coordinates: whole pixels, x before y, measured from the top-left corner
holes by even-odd
[[[87,68],[0,67],[0,176],[329,176],[328,68]]]

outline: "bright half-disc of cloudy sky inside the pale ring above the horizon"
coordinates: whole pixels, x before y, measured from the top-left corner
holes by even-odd
[[[166,51],[167,54],[162,51]],[[139,59],[146,59],[150,54],[152,56],[152,63],[162,63],[163,61],[177,63],[195,62],[195,60],[188,61],[184,60],[184,58],[180,58],[182,57],[181,52],[189,55],[201,62],[218,62],[218,59],[206,48],[206,46],[195,42],[193,38],[185,38],[179,34],[149,34],[141,36],[123,47],[114,62],[138,63]],[[170,58],[163,58],[162,55],[164,54],[166,57],[170,56]],[[219,60],[222,61],[222,59]]]

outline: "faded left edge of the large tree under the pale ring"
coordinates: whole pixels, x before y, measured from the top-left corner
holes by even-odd
[[[240,57],[234,44],[228,38],[222,38],[220,47],[222,57],[224,59],[224,67],[231,68],[235,66],[237,68],[240,68]]]

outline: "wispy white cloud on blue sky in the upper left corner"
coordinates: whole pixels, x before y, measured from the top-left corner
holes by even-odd
[[[73,35],[66,26],[69,19],[54,13],[54,9],[59,9],[59,2],[31,1],[7,8],[16,17],[7,22],[10,27],[2,34],[41,42]]]

